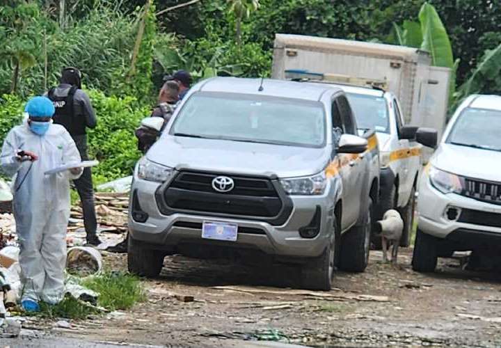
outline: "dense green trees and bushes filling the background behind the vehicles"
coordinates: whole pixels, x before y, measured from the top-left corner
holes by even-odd
[[[188,1],[63,2],[0,5],[0,139],[19,123],[27,97],[77,66],[100,118],[90,132],[90,153],[102,162],[96,182],[132,172],[140,156],[133,132],[164,74],[267,77],[276,33],[427,49],[456,72],[454,104],[470,93],[501,93],[501,6],[492,1],[212,0],[175,9]]]

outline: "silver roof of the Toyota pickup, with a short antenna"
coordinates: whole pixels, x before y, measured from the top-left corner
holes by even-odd
[[[272,97],[286,97],[300,100],[321,99],[324,93],[331,91],[340,92],[334,86],[304,84],[295,81],[264,79],[263,89],[260,91],[261,79],[243,79],[238,77],[214,77],[200,83],[200,91],[242,93],[254,95],[268,95]]]

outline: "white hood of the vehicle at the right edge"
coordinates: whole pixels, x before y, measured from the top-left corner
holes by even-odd
[[[500,181],[501,152],[443,143],[431,159],[438,169],[474,179]]]

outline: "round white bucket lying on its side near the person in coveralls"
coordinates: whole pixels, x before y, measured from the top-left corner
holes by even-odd
[[[66,269],[75,276],[90,276],[102,269],[102,257],[95,248],[74,246],[67,251]]]

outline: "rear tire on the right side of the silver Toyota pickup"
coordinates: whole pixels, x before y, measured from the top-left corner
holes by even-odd
[[[363,272],[369,263],[372,199],[368,200],[364,221],[359,221],[341,237],[340,269],[343,271]]]

